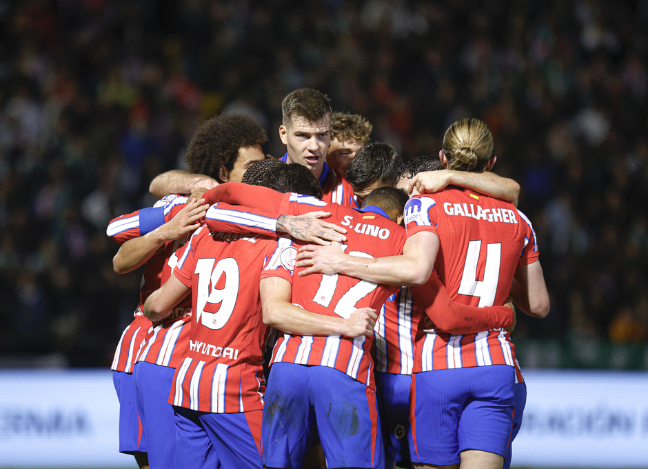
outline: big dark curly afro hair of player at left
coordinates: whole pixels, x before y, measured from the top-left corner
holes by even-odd
[[[187,170],[218,179],[219,168],[234,168],[239,150],[267,142],[263,127],[245,114],[221,114],[201,123],[189,141]],[[223,181],[221,181],[223,182]]]

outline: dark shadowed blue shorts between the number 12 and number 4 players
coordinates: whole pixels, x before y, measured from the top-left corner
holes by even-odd
[[[409,463],[409,387],[412,375],[375,372],[378,410],[383,423],[387,467],[401,461]]]

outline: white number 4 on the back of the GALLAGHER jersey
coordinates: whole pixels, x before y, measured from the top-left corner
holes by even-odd
[[[486,245],[486,265],[483,280],[477,280],[480,250],[481,240],[469,241],[458,294],[478,297],[479,307],[481,308],[482,306],[493,306],[495,301],[497,283],[500,277],[502,244],[490,243]]]

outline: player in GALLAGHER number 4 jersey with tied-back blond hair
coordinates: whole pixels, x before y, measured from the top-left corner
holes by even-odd
[[[445,168],[490,170],[496,161],[492,132],[478,119],[461,119],[447,130],[439,158]],[[471,306],[502,305],[515,279],[518,305],[535,317],[547,315],[535,234],[511,203],[449,187],[409,199],[405,223],[401,256],[354,259],[339,249],[305,246],[297,265],[312,267],[300,275],[341,273],[416,286],[434,268],[450,297]],[[422,321],[413,372],[408,439],[414,466],[502,468],[521,379],[509,332],[453,335]]]

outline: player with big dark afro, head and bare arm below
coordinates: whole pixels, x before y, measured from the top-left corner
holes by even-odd
[[[191,138],[185,162],[187,171],[172,170],[151,182],[156,197],[188,194],[194,187],[210,189],[217,183],[240,182],[245,170],[265,159],[263,127],[246,114],[221,114],[201,123]]]

